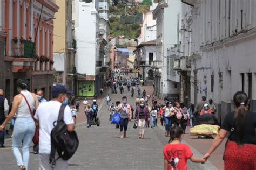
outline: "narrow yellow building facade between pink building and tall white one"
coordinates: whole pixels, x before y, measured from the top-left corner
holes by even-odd
[[[56,0],[59,6],[55,19],[55,43],[53,61],[55,83],[63,83],[68,89],[75,91],[75,52],[76,40],[73,39],[74,23],[72,22],[72,0]],[[59,78],[60,77],[60,78]]]

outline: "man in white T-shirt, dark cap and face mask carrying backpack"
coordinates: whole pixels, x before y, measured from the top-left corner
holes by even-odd
[[[53,122],[56,122],[59,115],[59,109],[62,103],[68,100],[68,95],[72,92],[65,86],[57,84],[52,88],[52,100],[39,105],[36,110],[36,125],[39,125],[39,169],[52,169],[49,163],[51,153],[51,131],[54,128]],[[69,132],[75,129],[70,107],[64,110],[63,120]],[[57,154],[57,153],[56,153]],[[58,157],[58,156],[57,156]],[[58,158],[56,160],[56,170],[68,169],[68,161]]]

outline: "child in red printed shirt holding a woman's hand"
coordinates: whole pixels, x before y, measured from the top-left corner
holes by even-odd
[[[165,170],[185,170],[187,169],[187,159],[192,162],[202,163],[205,159],[196,158],[186,144],[180,143],[183,129],[179,126],[171,128],[171,139],[169,144],[164,146],[164,169]]]

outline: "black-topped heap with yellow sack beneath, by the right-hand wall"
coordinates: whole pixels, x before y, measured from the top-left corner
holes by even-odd
[[[218,134],[219,123],[213,114],[203,114],[195,118],[196,126],[190,129],[190,136],[213,139],[212,135]]]

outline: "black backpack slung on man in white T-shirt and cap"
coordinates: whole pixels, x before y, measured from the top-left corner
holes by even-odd
[[[66,104],[62,104],[59,109],[58,121],[55,121],[57,124],[55,125],[55,122],[53,122],[54,128],[51,131],[50,164],[52,168],[59,158],[69,160],[75,154],[79,145],[77,133],[75,131],[68,132],[66,128],[63,120],[65,108]],[[57,159],[55,159],[56,150],[59,155]]]

